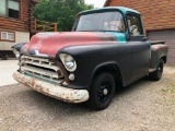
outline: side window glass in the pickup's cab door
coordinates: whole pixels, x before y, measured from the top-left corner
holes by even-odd
[[[129,32],[132,36],[142,35],[140,17],[133,14],[127,15]]]

